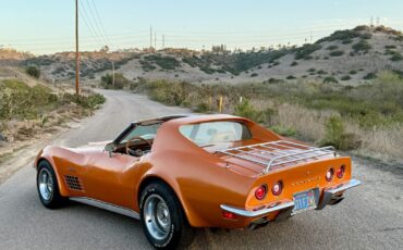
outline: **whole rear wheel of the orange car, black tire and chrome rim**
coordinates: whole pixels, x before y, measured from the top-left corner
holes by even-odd
[[[194,228],[188,225],[181,203],[161,182],[151,183],[142,191],[141,222],[156,249],[185,249],[193,241]]]

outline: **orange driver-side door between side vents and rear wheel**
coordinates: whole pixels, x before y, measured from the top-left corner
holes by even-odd
[[[134,184],[141,158],[102,150],[88,160],[84,184],[89,198],[111,204],[133,208]]]

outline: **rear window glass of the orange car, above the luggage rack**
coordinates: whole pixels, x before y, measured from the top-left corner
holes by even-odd
[[[180,127],[180,133],[197,146],[233,142],[252,138],[247,126],[240,122],[208,122]]]

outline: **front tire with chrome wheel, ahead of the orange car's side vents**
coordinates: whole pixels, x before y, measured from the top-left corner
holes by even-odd
[[[47,161],[41,161],[38,165],[36,187],[39,200],[46,208],[58,209],[66,203],[68,199],[60,195],[54,171]]]

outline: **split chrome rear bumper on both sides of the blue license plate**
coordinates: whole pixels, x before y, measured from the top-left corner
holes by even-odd
[[[323,209],[327,204],[337,204],[339,203],[343,197],[342,192],[356,187],[361,185],[361,182],[357,179],[350,179],[349,182],[339,184],[335,187],[329,187],[323,189],[323,196],[318,202],[317,210]],[[273,205],[271,208],[266,208],[257,211],[248,211],[244,209],[239,209],[234,208],[231,205],[225,205],[221,204],[220,208],[227,212],[231,212],[233,214],[244,216],[244,217],[261,217],[264,215],[267,215],[271,212],[280,211],[281,213],[279,214],[278,217],[283,217],[283,216],[290,216],[292,210],[294,209],[294,201],[289,201],[284,203],[279,203],[277,205]]]

